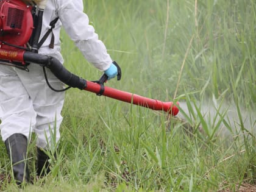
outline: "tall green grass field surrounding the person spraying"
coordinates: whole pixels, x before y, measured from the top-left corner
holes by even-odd
[[[52,174],[24,191],[218,191],[255,185],[256,2],[90,0],[84,7],[123,70],[122,80],[107,86],[186,102],[188,113],[180,108],[186,123],[69,90]],[[62,44],[66,68],[99,79],[101,72],[65,32]],[[217,104],[210,117],[202,112],[208,100]],[[227,118],[231,105],[236,119]],[[7,174],[10,162],[3,143],[0,148],[0,173]],[[33,143],[30,154],[35,157]],[[35,172],[35,158],[30,167]],[[2,190],[18,188],[4,180]]]

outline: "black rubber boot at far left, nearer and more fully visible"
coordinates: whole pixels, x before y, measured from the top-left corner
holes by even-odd
[[[15,133],[5,140],[7,154],[10,157],[13,175],[17,185],[23,181],[29,182],[29,168],[26,163],[27,138],[21,133]]]

